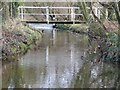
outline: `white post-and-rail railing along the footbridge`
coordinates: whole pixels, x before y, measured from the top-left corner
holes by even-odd
[[[32,12],[26,12],[26,10],[28,9],[32,9],[32,12],[33,12],[33,9],[45,9],[45,12],[35,12],[35,13],[32,13]],[[102,8],[101,6],[99,7],[95,7],[93,6],[92,7],[94,12],[95,12],[95,15],[98,16],[98,18],[100,18],[100,9]],[[56,13],[56,12],[53,12],[52,13],[50,12],[50,10],[52,9],[69,9],[70,11],[65,13],[65,12],[62,12],[62,13]],[[58,16],[62,16],[65,17],[65,18],[68,18],[68,19],[71,19],[71,22],[75,22],[76,19],[83,19],[83,14],[81,12],[76,12],[76,9],[80,10],[80,7],[52,7],[52,6],[19,6],[18,7],[18,10],[19,10],[19,16],[21,18],[21,21],[24,20],[24,17],[25,16],[28,16],[28,15],[33,15],[33,16],[41,16],[41,15],[44,15],[45,16],[45,21],[47,21],[49,23],[49,21],[51,20],[51,15],[53,15],[53,20],[55,20],[56,18],[58,19],[59,17]],[[87,9],[90,9],[90,7],[87,7]],[[89,13],[89,15],[91,16],[91,12]],[[57,16],[57,17],[56,17]],[[70,17],[67,17],[67,16],[70,16]],[[78,17],[80,16],[80,17]],[[81,17],[82,16],[82,17]],[[25,17],[26,18],[26,17]]]

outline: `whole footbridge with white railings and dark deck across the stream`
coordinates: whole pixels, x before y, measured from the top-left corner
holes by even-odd
[[[19,6],[18,10],[20,20],[26,23],[85,23],[79,7]],[[95,9],[95,14],[100,16],[99,8]]]

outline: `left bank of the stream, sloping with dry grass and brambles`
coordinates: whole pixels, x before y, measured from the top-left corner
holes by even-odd
[[[41,32],[25,26],[19,20],[6,21],[2,30],[2,61],[12,61],[25,54],[41,36]]]

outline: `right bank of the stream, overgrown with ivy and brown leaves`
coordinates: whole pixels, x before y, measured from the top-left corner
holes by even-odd
[[[73,24],[73,25],[58,25],[65,28],[68,31],[75,32],[78,34],[88,35],[89,40],[89,57],[94,56],[96,59],[91,59],[93,62],[112,62],[119,63],[118,59],[118,23],[105,21],[103,23],[107,31],[99,25],[99,23],[93,22],[89,26],[84,24]]]

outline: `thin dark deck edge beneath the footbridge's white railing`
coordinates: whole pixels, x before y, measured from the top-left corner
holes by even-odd
[[[44,23],[47,24],[47,21],[22,21],[22,22],[26,22],[26,23]],[[86,23],[85,21],[50,21],[49,24],[82,24],[82,23]]]

